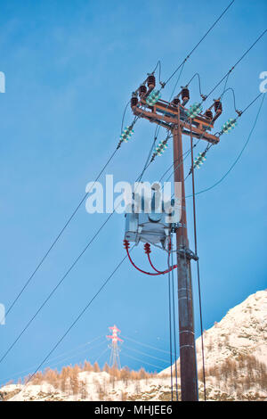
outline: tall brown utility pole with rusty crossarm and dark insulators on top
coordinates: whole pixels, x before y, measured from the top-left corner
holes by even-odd
[[[198,371],[190,269],[190,259],[198,259],[198,257],[190,251],[187,233],[182,135],[203,139],[212,144],[219,143],[219,137],[213,136],[207,131],[214,127],[214,120],[222,113],[222,105],[219,101],[216,101],[217,103],[214,103],[204,115],[198,112],[198,115],[194,113],[189,118],[188,110],[185,108],[185,104],[190,97],[187,88],[183,88],[171,103],[161,99],[153,103],[150,100],[150,94],[153,92],[155,85],[153,86],[153,78],[151,76],[148,78],[148,86],[148,91],[146,86],[142,85],[140,87],[138,92],[139,98],[135,92],[131,106],[134,115],[165,127],[173,135],[174,192],[175,183],[180,182],[182,185],[182,216],[181,222],[176,228],[181,392],[182,401],[198,401]],[[180,95],[182,96],[182,101],[179,98]],[[213,107],[215,110],[214,116],[211,111]]]

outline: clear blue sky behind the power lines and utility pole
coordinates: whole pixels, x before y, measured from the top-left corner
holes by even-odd
[[[87,182],[93,180],[117,145],[131,92],[159,59],[162,78],[166,79],[229,3],[206,0],[200,7],[197,0],[0,1],[0,71],[6,77],[6,93],[0,94],[0,302],[6,308],[76,207]],[[202,89],[208,93],[263,32],[266,6],[264,0],[236,0],[186,63],[179,86],[198,71]],[[259,93],[259,74],[267,70],[265,51],[266,36],[229,78],[239,109]],[[164,90],[166,100],[174,83],[175,78]],[[194,102],[199,99],[197,80],[192,83],[191,98]],[[235,115],[231,94],[225,96],[223,106],[225,111],[215,130]],[[255,103],[239,120],[239,126],[208,154],[197,174],[197,190],[212,185],[231,166],[247,139],[258,106],[259,102]],[[237,166],[221,185],[197,199],[206,329],[249,294],[266,288],[265,120],[266,103]],[[128,111],[125,122],[131,121]],[[123,145],[107,173],[114,174],[116,180],[134,181],[146,160],[154,129],[148,122],[138,122],[132,140]],[[161,136],[165,136],[163,130]],[[184,148],[188,142],[185,137]],[[169,148],[151,165],[146,179],[161,177],[171,159]],[[186,187],[190,193],[190,181]],[[192,244],[190,200],[188,211]],[[1,354],[106,217],[88,215],[85,206],[79,209],[7,317],[6,325],[0,326]],[[6,357],[0,366],[1,377],[38,364],[53,347],[122,259],[124,228],[123,216],[111,218]],[[134,258],[148,267],[142,246]],[[153,258],[158,266],[166,266],[160,252]],[[194,268],[193,274],[199,335]],[[108,326],[114,323],[122,335],[168,349],[166,280],[139,274],[125,262],[54,356],[108,333]],[[94,360],[100,352],[92,349],[85,355]],[[142,366],[123,352],[123,365]],[[150,353],[158,355],[156,351]],[[85,355],[67,364],[82,361]],[[141,354],[135,356],[142,358]],[[107,354],[100,363],[106,359]],[[143,360],[166,366],[149,357]]]

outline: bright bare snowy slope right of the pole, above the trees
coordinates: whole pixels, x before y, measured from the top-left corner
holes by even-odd
[[[231,308],[221,322],[204,333],[205,364],[214,366],[227,358],[253,355],[267,365],[267,290],[255,292]],[[196,341],[201,368],[201,338]],[[159,374],[170,374],[170,367]]]

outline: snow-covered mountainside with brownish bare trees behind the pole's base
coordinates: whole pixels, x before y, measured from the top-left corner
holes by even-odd
[[[250,295],[204,333],[206,399],[267,400],[267,290]],[[199,398],[204,398],[201,341]],[[177,362],[179,365],[179,362]],[[179,368],[178,368],[179,369]],[[2,400],[170,400],[170,368],[157,375],[66,367],[27,386],[0,389]],[[178,380],[179,381],[179,380]],[[180,397],[180,388],[179,388]]]

